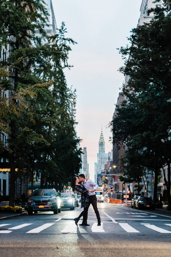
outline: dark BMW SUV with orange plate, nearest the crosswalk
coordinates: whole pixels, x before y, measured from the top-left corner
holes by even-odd
[[[28,214],[38,213],[38,211],[53,211],[54,214],[61,212],[61,200],[53,189],[36,189],[27,201]]]

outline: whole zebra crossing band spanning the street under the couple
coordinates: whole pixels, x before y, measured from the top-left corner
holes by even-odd
[[[160,226],[156,226],[154,224],[149,223],[139,223],[138,230],[134,227],[133,224],[128,224],[127,222],[118,222],[115,224],[114,222],[102,222],[101,226],[97,226],[97,222],[89,222],[91,223],[90,226],[81,227],[81,226],[75,226],[74,221],[72,220],[62,220],[58,219],[57,222],[48,222],[41,226],[37,226],[37,224],[34,223],[24,223],[17,226],[13,226],[13,224],[0,224],[0,234],[9,234],[11,232],[15,232],[15,230],[19,230],[23,233],[28,234],[38,234],[41,233],[44,230],[47,230],[47,233],[50,233],[51,230],[50,227],[55,227],[55,232],[58,234],[76,234],[78,230],[80,233],[108,233],[109,232],[109,226],[111,228],[111,225],[113,226],[113,232],[116,230],[118,231],[126,231],[127,233],[144,233],[144,227],[146,227],[146,233],[149,234],[150,231],[155,231],[156,233],[162,233],[162,234],[169,234],[171,233],[171,224],[162,224]],[[60,224],[60,226],[58,225]],[[12,225],[12,226],[11,226]],[[162,226],[162,228],[161,228]],[[141,229],[143,231],[141,231]],[[170,230],[169,230],[170,229]],[[54,230],[53,230],[54,231]]]

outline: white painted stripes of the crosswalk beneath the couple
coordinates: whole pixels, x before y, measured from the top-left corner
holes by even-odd
[[[59,220],[60,221],[60,220]],[[41,231],[48,229],[50,226],[54,225],[54,224],[58,224],[58,223],[46,223],[43,224],[42,226],[39,226],[37,228],[33,228],[31,230],[29,230],[28,232],[25,233],[40,233]],[[66,222],[65,222],[66,224]],[[104,225],[105,224],[105,225]],[[0,227],[3,227],[2,229],[0,229],[0,233],[11,233],[13,232],[13,230],[19,230],[22,228],[25,228],[27,226],[30,225],[34,225],[33,223],[25,223],[25,224],[21,224],[18,226],[13,226],[10,228],[5,228],[5,226],[9,226],[11,224],[0,224]],[[35,224],[36,225],[36,224]],[[125,230],[127,233],[141,233],[140,231],[136,230],[135,228],[133,228],[133,226],[129,225],[127,222],[124,223],[118,223],[118,225],[120,226],[121,229]],[[145,226],[146,228],[150,229],[150,230],[155,230],[156,232],[159,233],[171,233],[171,231],[160,228],[158,226],[152,225],[152,224],[148,224],[148,223],[141,223],[142,227]],[[164,224],[165,226],[171,226],[171,224]],[[75,224],[73,224],[73,221],[68,220],[67,222],[67,226],[65,226],[62,230],[60,231],[56,231],[57,233],[61,233],[61,234],[70,234],[70,233],[77,233],[77,229],[79,229],[80,233],[104,233],[104,232],[108,232],[107,228],[105,231],[104,226],[106,226],[106,223],[101,223],[101,226],[97,226],[97,222],[94,222],[92,226],[88,227],[88,231],[86,231],[83,227],[76,227]],[[115,224],[114,226],[117,226],[117,224]],[[117,227],[118,228],[118,227]],[[139,226],[139,230],[140,230],[140,226]]]

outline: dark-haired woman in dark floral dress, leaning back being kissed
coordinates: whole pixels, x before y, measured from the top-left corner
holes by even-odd
[[[81,193],[81,208],[84,207],[84,210],[80,213],[80,215],[75,218],[75,224],[78,226],[78,221],[80,218],[88,212],[88,207],[89,207],[89,195],[88,192],[92,192],[92,190],[86,190],[86,188],[83,185],[78,184],[80,180],[77,177],[73,177],[71,180],[71,187],[72,191],[74,192],[75,190],[77,192]]]

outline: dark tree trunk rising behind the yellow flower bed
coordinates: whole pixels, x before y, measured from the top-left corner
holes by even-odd
[[[15,158],[14,152],[9,156],[10,162],[10,193],[9,193],[9,206],[14,207],[15,198]]]

